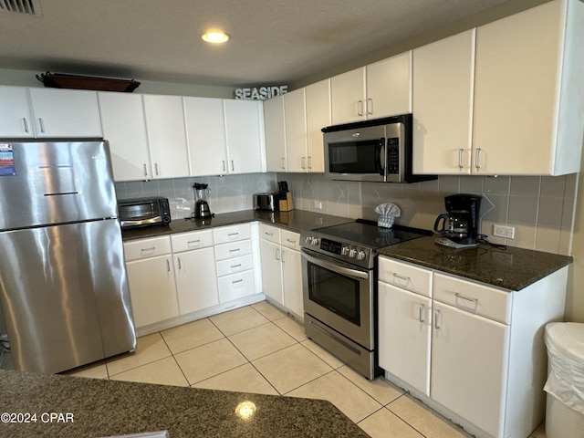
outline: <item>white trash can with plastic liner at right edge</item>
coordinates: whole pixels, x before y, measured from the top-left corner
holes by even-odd
[[[581,438],[584,433],[584,324],[546,326],[546,437]]]

